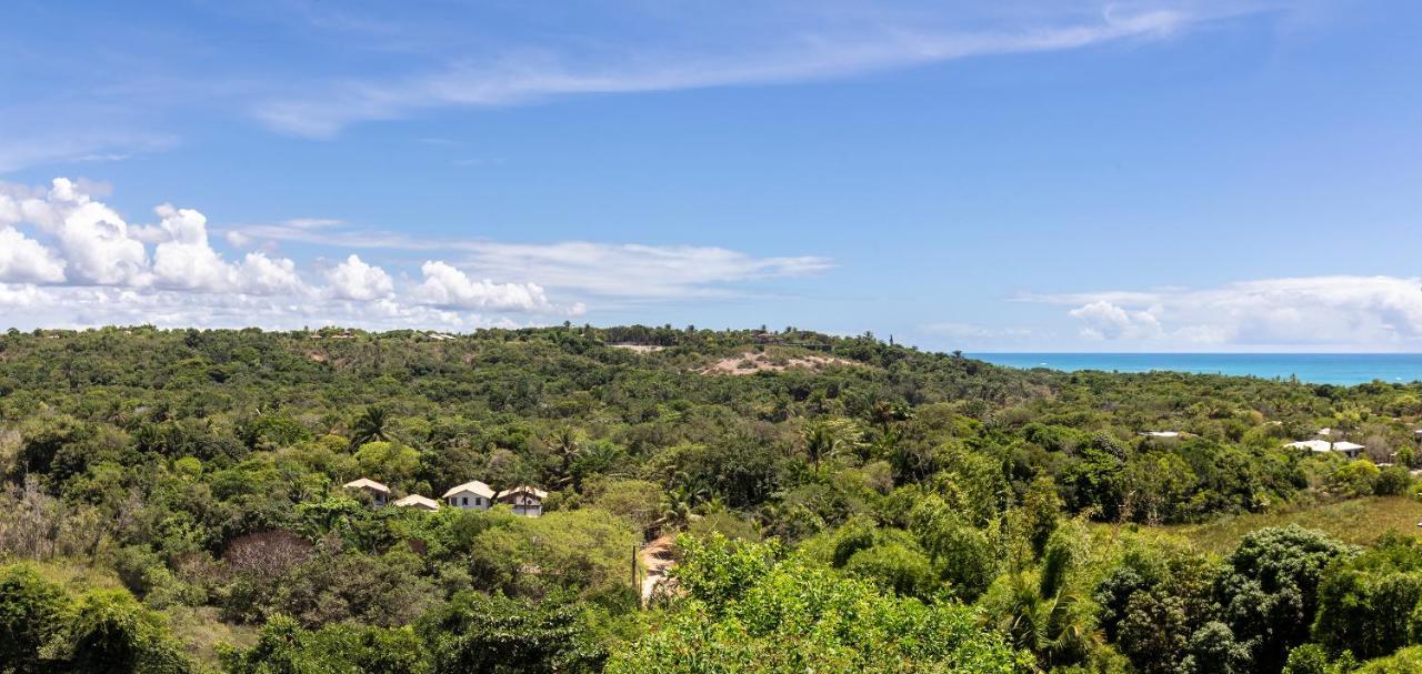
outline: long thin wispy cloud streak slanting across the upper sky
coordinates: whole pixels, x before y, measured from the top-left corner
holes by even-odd
[[[455,58],[424,73],[341,80],[299,97],[260,102],[253,114],[276,129],[314,138],[360,121],[441,107],[515,105],[577,94],[627,94],[826,80],[991,54],[1081,48],[1169,36],[1207,14],[1153,9],[1103,10],[1095,18],[985,30],[921,28],[870,21],[832,33],[792,30],[769,44],[727,44],[715,53],[623,51],[586,63],[556,46],[493,58]],[[1059,21],[1059,20],[1058,20]]]

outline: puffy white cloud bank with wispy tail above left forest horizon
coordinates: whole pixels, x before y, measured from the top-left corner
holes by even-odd
[[[579,300],[589,297],[727,297],[830,266],[720,247],[418,239],[319,218],[215,232],[201,210],[171,203],[154,209],[156,222],[134,223],[95,199],[94,186],[65,178],[43,189],[0,183],[0,303],[46,309],[9,311],[11,324],[185,324],[186,316],[196,326],[347,320],[456,328],[513,324],[503,314],[582,316]],[[338,263],[303,274],[276,255],[287,240],[356,247],[367,259],[343,250]],[[412,280],[383,269],[394,250],[451,257],[427,257]],[[567,300],[555,300],[562,293]]]

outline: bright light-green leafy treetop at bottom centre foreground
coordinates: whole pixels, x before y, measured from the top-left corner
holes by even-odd
[[[880,594],[774,546],[685,542],[687,597],[663,628],[619,648],[609,674],[1005,674],[1030,658],[971,609]]]

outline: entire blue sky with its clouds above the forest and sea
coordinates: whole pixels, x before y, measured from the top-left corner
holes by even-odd
[[[1422,348],[1413,3],[7,3],[0,323]]]

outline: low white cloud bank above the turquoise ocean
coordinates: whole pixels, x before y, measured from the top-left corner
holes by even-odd
[[[1311,276],[1163,289],[1024,297],[1072,306],[1094,340],[1182,348],[1415,348],[1422,279]]]

